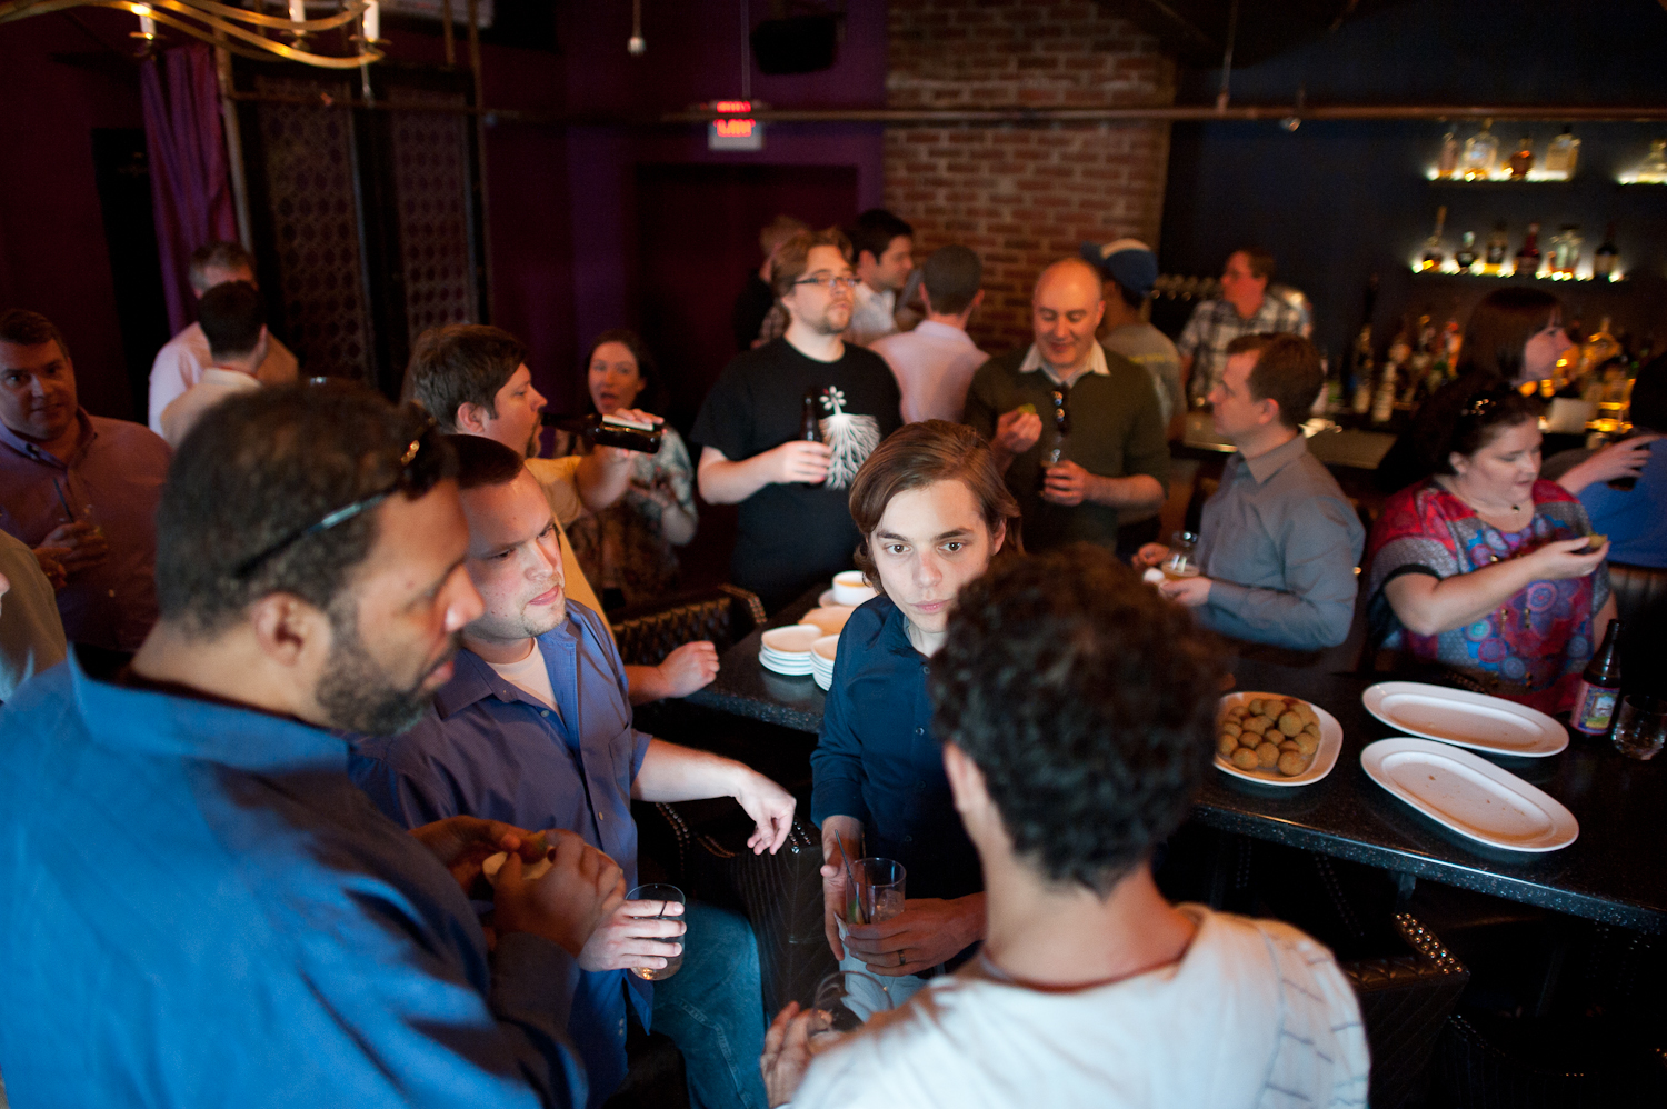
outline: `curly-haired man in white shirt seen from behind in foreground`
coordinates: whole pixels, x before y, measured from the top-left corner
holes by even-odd
[[[790,1004],[765,1039],[772,1106],[1365,1104],[1332,954],[1172,906],[1152,879],[1214,749],[1225,662],[1207,635],[1087,544],[962,589],[929,682],[984,864],[984,949],[815,1052],[827,1014]],[[899,966],[920,939],[905,919]]]

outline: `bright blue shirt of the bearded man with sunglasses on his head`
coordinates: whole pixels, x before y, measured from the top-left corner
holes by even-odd
[[[327,732],[73,654],[23,685],[0,709],[12,1104],[582,1102],[572,959],[518,934],[488,964],[457,882],[345,770]]]

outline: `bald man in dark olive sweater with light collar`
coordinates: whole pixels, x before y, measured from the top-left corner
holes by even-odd
[[[1025,547],[1089,540],[1117,549],[1119,519],[1164,504],[1169,447],[1145,370],[1094,339],[1100,273],[1082,258],[1042,270],[1030,297],[1035,340],[985,362],[967,417],[990,440],[1024,510]],[[1137,540],[1124,544],[1134,555]]]

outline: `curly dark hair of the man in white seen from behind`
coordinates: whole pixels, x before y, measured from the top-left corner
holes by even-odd
[[[1017,854],[1105,897],[1185,819],[1225,672],[1185,609],[1074,544],[962,589],[932,722],[984,772]]]

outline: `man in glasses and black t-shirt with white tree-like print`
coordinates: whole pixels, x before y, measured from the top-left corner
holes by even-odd
[[[850,243],[835,228],[782,243],[770,284],[787,334],[737,357],[707,394],[690,439],[700,444],[700,495],[740,505],[730,577],[775,610],[852,565],[850,482],[897,430],[902,399],[877,354],[850,347]],[[820,442],[798,437],[815,394]]]

